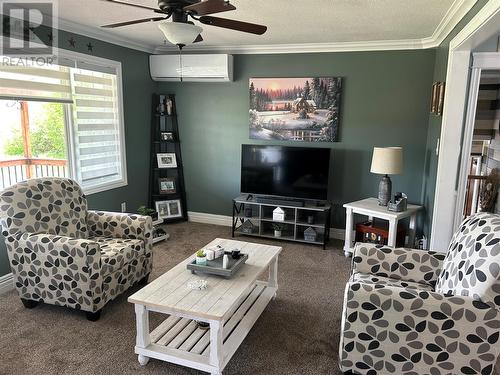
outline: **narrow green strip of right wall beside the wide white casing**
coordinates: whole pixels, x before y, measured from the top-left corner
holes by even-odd
[[[446,81],[446,70],[448,68],[448,52],[450,41],[459,33],[460,30],[481,10],[488,0],[478,0],[472,9],[465,15],[464,18],[455,26],[452,32],[446,37],[441,45],[436,49],[436,63],[434,66],[435,81]],[[426,207],[424,218],[424,232],[429,235],[432,224],[432,210],[434,209],[434,193],[436,190],[436,177],[438,156],[436,155],[437,140],[441,136],[442,117],[429,115],[429,132],[427,135],[426,145],[426,160],[424,170],[424,189],[423,202]],[[459,147],[459,145],[457,145]]]

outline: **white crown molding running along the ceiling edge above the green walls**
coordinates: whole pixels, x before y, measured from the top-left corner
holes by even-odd
[[[234,54],[283,54],[283,53],[321,53],[321,52],[355,52],[355,51],[389,51],[414,50],[438,47],[460,20],[472,9],[477,0],[455,0],[443,19],[439,22],[433,34],[421,39],[332,42],[332,43],[299,43],[299,44],[266,44],[266,45],[190,45],[186,52],[224,52]],[[58,28],[70,33],[95,38],[104,42],[116,44],[147,53],[161,54],[177,52],[175,46],[157,46],[134,42],[119,37],[111,32],[93,26],[86,26],[59,18]]]

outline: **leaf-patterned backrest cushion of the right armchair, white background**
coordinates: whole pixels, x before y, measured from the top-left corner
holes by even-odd
[[[470,296],[500,308],[500,215],[481,212],[457,230],[436,292]]]

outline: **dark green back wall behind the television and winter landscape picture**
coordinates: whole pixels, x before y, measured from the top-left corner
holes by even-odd
[[[188,209],[231,214],[243,143],[330,147],[334,227],[344,227],[343,203],[377,195],[373,146],[404,147],[404,174],[394,176],[393,188],[420,203],[434,59],[434,50],[236,55],[234,82],[161,83],[160,92],[176,94]],[[329,75],[344,78],[340,142],[249,139],[250,77]]]

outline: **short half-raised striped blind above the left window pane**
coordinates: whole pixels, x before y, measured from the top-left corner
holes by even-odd
[[[0,65],[0,98],[71,103],[70,69]]]

